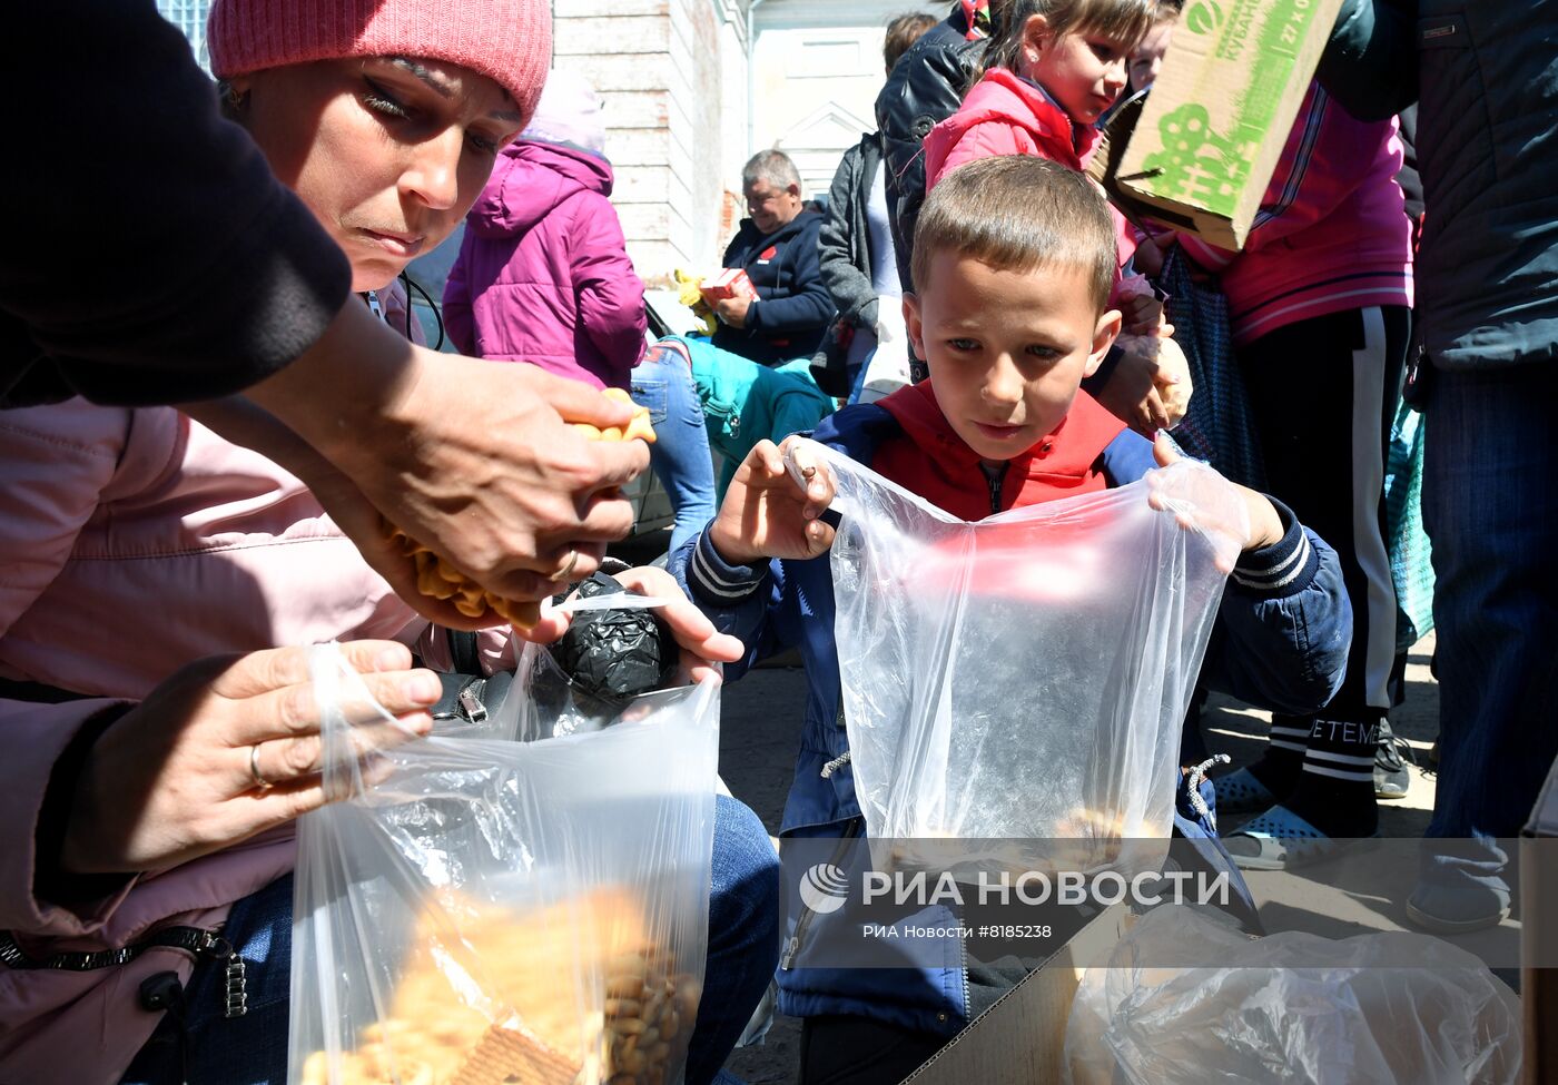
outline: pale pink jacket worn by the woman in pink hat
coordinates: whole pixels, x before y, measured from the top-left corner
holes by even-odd
[[[73,399],[0,412],[0,675],[115,698],[0,700],[0,820],[12,832],[0,929],[33,956],[117,948],[153,926],[212,928],[293,865],[287,828],[142,873],[83,910],[39,899],[34,826],[55,761],[84,723],[201,656],[413,642],[428,628],[298,479],[165,407]],[[439,645],[418,649],[436,666]],[[0,1080],[117,1082],[157,1024],[137,1005],[139,984],[168,970],[189,979],[192,959],[151,949],[84,973],[0,965]]]

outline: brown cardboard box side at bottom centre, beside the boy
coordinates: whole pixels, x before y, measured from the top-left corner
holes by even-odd
[[[969,1021],[904,1085],[1059,1085],[1066,1024],[1086,963],[1105,960],[1130,928],[1123,904],[1100,912],[1038,970]]]

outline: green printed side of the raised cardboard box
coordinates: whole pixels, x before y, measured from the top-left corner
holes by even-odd
[[[1232,217],[1250,179],[1254,157],[1282,101],[1298,47],[1309,33],[1313,0],[1195,0],[1184,14],[1184,30],[1209,42],[1218,61],[1240,64],[1248,83],[1228,95],[1228,117],[1212,117],[1197,98],[1167,114],[1158,125],[1159,150],[1142,161],[1147,175],[1136,184],[1147,192]],[[1251,42],[1251,31],[1259,34]],[[1251,48],[1253,45],[1253,48]],[[1226,78],[1228,65],[1206,69]]]

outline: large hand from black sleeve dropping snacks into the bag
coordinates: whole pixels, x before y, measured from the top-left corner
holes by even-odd
[[[631,404],[538,366],[414,346],[355,298],[315,348],[246,396],[344,477],[319,493],[341,530],[408,603],[453,628],[497,616],[450,617],[407,592],[405,561],[388,557],[369,508],[494,596],[534,600],[562,569],[594,572],[628,533],[620,488],[650,463],[642,441],[589,441],[572,426],[623,427]],[[277,458],[270,430],[249,436]],[[305,482],[318,488],[318,472]]]

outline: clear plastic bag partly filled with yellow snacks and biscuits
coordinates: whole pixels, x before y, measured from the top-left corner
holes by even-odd
[[[527,647],[494,728],[556,683]],[[592,730],[433,737],[363,770],[315,653],[326,787],[298,823],[293,1085],[679,1082],[707,946],[718,684]],[[566,680],[564,680],[566,681]]]

